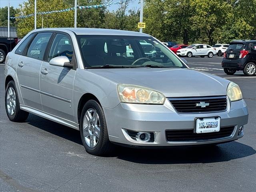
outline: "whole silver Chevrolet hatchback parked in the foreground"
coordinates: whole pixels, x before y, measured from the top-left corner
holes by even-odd
[[[162,57],[148,58],[140,44]],[[134,57],[123,56],[130,46]],[[218,144],[244,135],[237,84],[188,68],[156,38],[90,28],[33,30],[5,64],[8,118],[29,113],[80,130],[86,151]]]

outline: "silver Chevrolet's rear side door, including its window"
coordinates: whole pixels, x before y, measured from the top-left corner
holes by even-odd
[[[51,32],[36,34],[27,50],[20,56],[17,65],[17,77],[24,104],[39,110],[42,110],[39,74],[44,52],[51,35]],[[19,48],[16,51],[19,51]]]

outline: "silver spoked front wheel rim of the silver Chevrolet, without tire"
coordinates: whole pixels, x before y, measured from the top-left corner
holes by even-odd
[[[96,147],[100,140],[100,118],[92,108],[88,109],[84,115],[83,137],[90,148]]]

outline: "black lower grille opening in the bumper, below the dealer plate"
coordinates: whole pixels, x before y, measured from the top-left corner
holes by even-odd
[[[186,130],[166,130],[166,140],[168,142],[204,141],[229,137],[232,135],[235,126],[221,127],[218,132],[194,133],[193,129]]]

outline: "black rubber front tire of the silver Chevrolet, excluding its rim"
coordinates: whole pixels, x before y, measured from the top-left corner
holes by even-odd
[[[86,142],[84,140],[84,137],[83,137],[83,120],[84,120],[84,116],[85,116],[86,111],[90,108],[96,110],[96,112],[99,115],[99,120],[100,120],[100,139],[98,141],[98,144],[94,148],[90,148],[86,144]],[[109,142],[109,140],[108,140],[108,131],[107,131],[106,119],[105,119],[105,116],[104,116],[103,109],[100,106],[100,104],[98,104],[98,102],[96,102],[95,100],[89,100],[84,105],[84,107],[82,109],[82,113],[81,113],[79,128],[80,128],[80,135],[81,135],[82,143],[84,145],[84,148],[86,149],[86,152],[88,152],[90,154],[95,154],[95,155],[104,154],[103,151],[104,151],[105,142]]]

